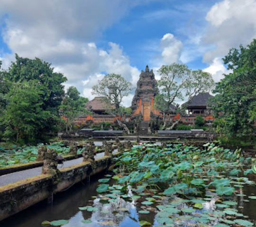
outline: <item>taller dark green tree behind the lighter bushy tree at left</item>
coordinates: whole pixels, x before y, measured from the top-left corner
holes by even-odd
[[[17,54],[15,57],[16,61],[12,62],[9,70],[1,71],[3,79],[9,81],[12,87],[7,95],[7,109],[11,111],[11,109],[18,108],[18,105],[23,105],[23,100],[18,102],[18,95],[15,96],[17,100],[14,100],[12,97],[12,93],[15,93],[15,88],[18,89],[20,94],[27,92],[28,95],[32,94],[31,91],[34,90],[40,107],[37,106],[35,108],[33,103],[29,105],[27,100],[27,104],[24,105],[27,105],[27,111],[35,110],[35,113],[40,108],[40,114],[38,116],[41,116],[41,118],[37,118],[37,130],[33,128],[33,133],[35,133],[33,138],[35,140],[44,140],[45,135],[57,130],[57,122],[60,119],[59,108],[64,96],[63,83],[67,79],[62,73],[55,73],[51,64],[38,58],[31,60],[21,58]],[[20,99],[22,99],[21,96]],[[11,104],[16,106],[9,106]],[[8,117],[6,114],[3,114],[3,116]],[[20,131],[18,131],[18,127],[10,122],[11,119],[9,119],[9,122],[5,120],[4,122],[8,123],[8,127],[11,126],[14,127],[13,129],[17,129],[16,133],[19,136]]]

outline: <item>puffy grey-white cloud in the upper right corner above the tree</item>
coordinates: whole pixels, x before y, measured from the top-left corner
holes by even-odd
[[[214,44],[215,48],[205,52],[204,62],[223,57],[230,48],[247,45],[256,37],[256,0],[223,0],[212,6],[205,18],[210,25],[202,44]]]

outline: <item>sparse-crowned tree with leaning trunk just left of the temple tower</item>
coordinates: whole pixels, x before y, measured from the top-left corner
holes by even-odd
[[[92,94],[104,97],[106,102],[106,112],[117,118],[120,127],[123,127],[128,134],[130,131],[126,124],[121,122],[118,116],[125,110],[121,103],[125,96],[132,91],[132,84],[124,79],[121,75],[108,74],[98,81],[98,84],[92,87]]]

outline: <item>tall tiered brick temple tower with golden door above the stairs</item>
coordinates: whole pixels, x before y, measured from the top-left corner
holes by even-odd
[[[142,114],[143,121],[150,120],[150,112],[159,114],[153,108],[155,96],[158,94],[157,82],[153,70],[148,69],[146,66],[145,72],[141,70],[137,88],[132,100],[131,109],[133,115]],[[158,113],[157,113],[158,112]]]

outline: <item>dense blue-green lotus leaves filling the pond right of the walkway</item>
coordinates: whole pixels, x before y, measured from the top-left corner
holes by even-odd
[[[250,221],[235,219],[243,214],[231,208],[238,204],[237,196],[246,196],[242,194],[243,185],[255,184],[240,175],[245,166],[252,166],[245,174],[256,173],[255,160],[243,157],[241,149],[231,151],[213,143],[203,145],[203,149],[183,144],[170,144],[165,148],[142,144],[115,160],[112,179],[116,181],[112,185],[104,184],[110,182],[111,175],[99,180],[101,185],[97,191],[101,194],[95,201],[104,198],[104,205],[94,202],[94,209],[99,207],[101,212],[107,212],[115,208],[112,213],[121,217],[126,212],[130,217],[134,213],[129,210],[130,204],[137,204],[137,212],[144,214],[137,220],[141,226],[153,225],[155,221],[161,226],[253,225]],[[254,200],[256,196],[247,198]],[[206,208],[209,202],[217,208]],[[119,206],[121,203],[123,206]],[[87,207],[79,209],[88,210]],[[156,218],[147,219],[146,214],[152,210]]]

